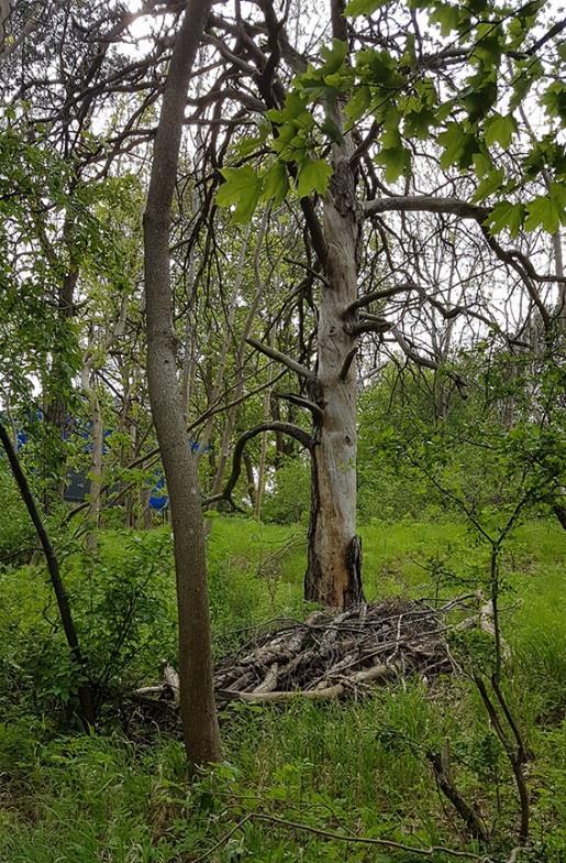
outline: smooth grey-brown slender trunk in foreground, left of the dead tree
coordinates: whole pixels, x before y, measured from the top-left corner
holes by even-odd
[[[175,42],[144,215],[147,376],[171,510],[179,618],[180,713],[191,764],[219,760],[220,734],[212,678],[203,520],[176,373],[169,227],[187,89],[209,9],[210,0],[190,0]]]

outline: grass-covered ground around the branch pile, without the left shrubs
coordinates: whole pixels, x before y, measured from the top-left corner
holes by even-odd
[[[464,580],[477,579],[482,571],[482,550],[457,525],[376,523],[363,534],[368,599],[465,592],[465,585],[439,588],[436,576],[450,569]],[[285,554],[274,554],[292,537],[296,544]],[[209,549],[219,652],[242,637],[235,631],[257,621],[304,613],[301,537],[300,527],[214,520]],[[107,535],[102,556],[109,566],[121,555],[121,540]],[[508,689],[536,754],[533,837],[541,844],[532,860],[553,863],[564,860],[566,849],[561,827],[566,727],[559,722],[566,703],[565,557],[565,535],[539,523],[518,532],[506,561]],[[20,580],[4,580],[3,591],[22,590],[18,575]],[[40,610],[41,592],[25,591],[26,615],[34,602]],[[5,624],[2,630],[5,641]],[[2,863],[190,861],[257,806],[312,826],[398,840],[411,833],[423,843],[462,846],[458,821],[443,807],[422,758],[422,744],[440,746],[446,738],[465,794],[491,815],[499,800],[501,852],[513,842],[513,785],[465,681],[446,684],[434,697],[409,686],[341,707],[234,708],[222,722],[226,764],[190,787],[175,741],[155,739],[134,749],[120,735],[53,739],[38,720],[33,728],[30,723],[22,718],[0,727]],[[407,746],[402,740],[415,743]],[[497,846],[493,854],[497,859]],[[210,859],[352,863],[390,857],[375,848],[248,822]]]

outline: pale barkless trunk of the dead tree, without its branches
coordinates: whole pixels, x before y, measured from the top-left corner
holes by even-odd
[[[334,10],[333,10],[334,11]],[[342,11],[342,10],[341,10]],[[342,19],[343,21],[343,19]],[[334,35],[344,39],[341,21]],[[336,32],[337,31],[337,32]],[[339,127],[337,106],[329,110]],[[317,400],[323,409],[312,449],[311,520],[306,599],[346,608],[363,599],[360,543],[356,536],[357,338],[345,309],[357,298],[359,214],[351,143],[334,144],[334,175],[324,197],[325,276],[318,328]]]

